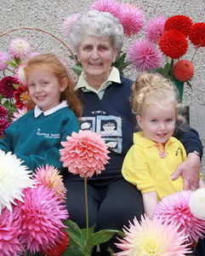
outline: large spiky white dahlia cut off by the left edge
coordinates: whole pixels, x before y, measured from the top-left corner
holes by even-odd
[[[4,207],[12,212],[11,204],[15,204],[14,200],[23,201],[23,189],[31,187],[34,181],[31,171],[11,152],[0,150],[0,163],[0,213]]]

